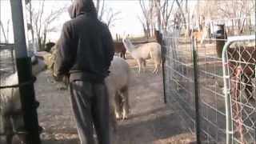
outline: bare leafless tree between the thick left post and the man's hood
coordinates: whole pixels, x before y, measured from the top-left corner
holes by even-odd
[[[38,50],[44,50],[47,33],[56,31],[57,27],[51,24],[66,10],[66,6],[57,10],[50,10],[50,14],[45,14],[45,0],[40,1],[38,9],[35,9],[32,2],[28,2],[26,10],[29,15],[29,30],[32,41],[36,38]],[[35,42],[34,42],[35,43]]]

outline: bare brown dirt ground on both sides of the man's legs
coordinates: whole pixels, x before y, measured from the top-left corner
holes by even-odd
[[[185,129],[174,102],[163,102],[162,71],[152,74],[152,63],[146,72],[138,74],[133,59],[130,64],[130,117],[118,122],[114,144],[178,144],[194,143],[194,136]],[[69,90],[53,81],[50,72],[39,74],[35,91],[40,107],[39,123],[44,128],[43,144],[77,144]]]

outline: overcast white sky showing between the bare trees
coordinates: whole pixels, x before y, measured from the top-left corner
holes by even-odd
[[[38,3],[38,1],[34,1],[35,3]],[[11,20],[11,14],[10,14],[10,2],[7,0],[0,0],[0,18],[2,21],[2,24],[4,26],[4,29],[7,30],[7,22],[8,20]],[[37,6],[37,4],[34,4],[34,6]],[[70,6],[70,1],[50,1],[46,0],[45,7],[46,7],[46,14],[47,12],[50,13],[51,9],[58,9],[58,7],[62,6]],[[111,26],[110,31],[113,34],[113,37],[115,38],[115,34],[133,34],[133,35],[142,35],[142,26],[140,22],[138,21],[138,15],[140,15],[141,8],[139,6],[138,0],[107,0],[106,6],[113,8],[115,12],[120,11],[121,14],[118,15],[118,21],[114,23],[114,26]],[[57,21],[54,22],[53,25],[58,27],[58,32],[51,33],[49,38],[57,40],[59,37],[59,31],[62,28],[62,24],[66,21],[70,20],[69,14],[67,12],[63,13],[60,18],[58,18]],[[12,23],[10,21],[9,26],[9,39],[10,42],[13,41],[12,36]],[[2,33],[2,31],[1,31]],[[3,40],[3,35],[1,34],[1,40]]]

